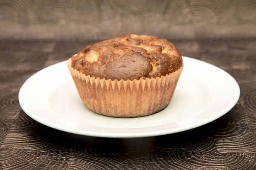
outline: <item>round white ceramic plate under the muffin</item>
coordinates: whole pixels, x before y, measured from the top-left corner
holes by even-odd
[[[184,69],[170,104],[139,118],[113,118],[90,111],[79,98],[67,61],[32,75],[19,102],[32,119],[70,133],[111,138],[158,136],[189,130],[218,119],[236,104],[239,85],[227,72],[183,57]]]

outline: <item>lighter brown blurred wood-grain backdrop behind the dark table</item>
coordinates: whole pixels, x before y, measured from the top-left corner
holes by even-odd
[[[125,33],[256,37],[256,1],[0,0],[0,38],[98,40]]]

